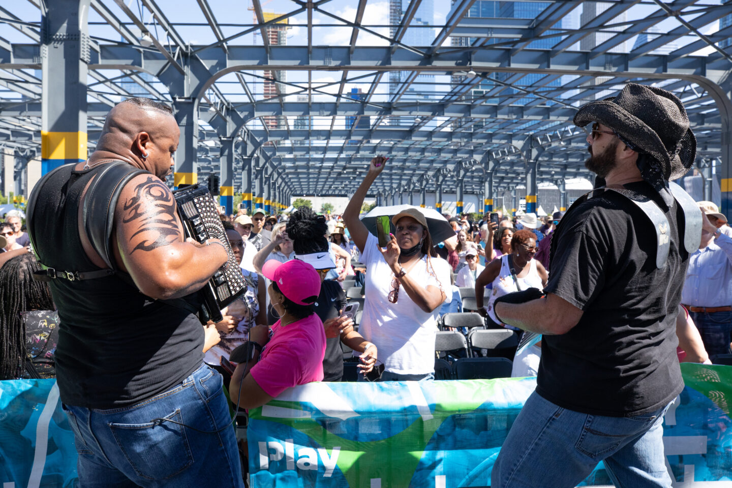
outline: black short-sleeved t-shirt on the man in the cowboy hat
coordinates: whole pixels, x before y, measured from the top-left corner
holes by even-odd
[[[662,201],[645,182],[625,187]],[[671,249],[661,269],[650,219],[624,196],[603,192],[561,219],[545,291],[584,314],[567,334],[542,338],[537,393],[545,399],[582,413],[635,416],[683,388],[676,309],[689,255],[681,209],[674,204],[665,215]]]

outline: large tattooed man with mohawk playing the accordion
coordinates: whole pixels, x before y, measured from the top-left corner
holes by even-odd
[[[82,487],[242,487],[221,375],[203,364],[194,292],[223,266],[184,239],[165,184],[180,131],[130,98],[89,159],[39,181],[28,229],[59,308],[56,372]],[[206,480],[203,482],[202,480]]]

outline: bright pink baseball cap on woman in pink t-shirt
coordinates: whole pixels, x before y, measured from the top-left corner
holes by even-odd
[[[262,266],[262,274],[277,283],[282,294],[296,304],[313,304],[320,295],[320,275],[304,261],[292,259],[280,263],[270,259]]]

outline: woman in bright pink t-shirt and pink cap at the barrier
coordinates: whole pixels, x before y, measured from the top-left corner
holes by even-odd
[[[286,388],[323,380],[325,329],[313,304],[321,279],[313,266],[301,260],[264,263],[262,274],[272,283],[267,288],[272,308],[280,320],[272,326],[255,326],[249,341],[231,351],[238,362],[231,376],[231,402],[256,408]]]

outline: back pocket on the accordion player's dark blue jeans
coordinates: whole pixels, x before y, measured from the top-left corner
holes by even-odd
[[[163,417],[183,423],[180,409]],[[185,429],[173,422],[109,424],[114,440],[135,473],[146,479],[168,479],[193,464]]]

